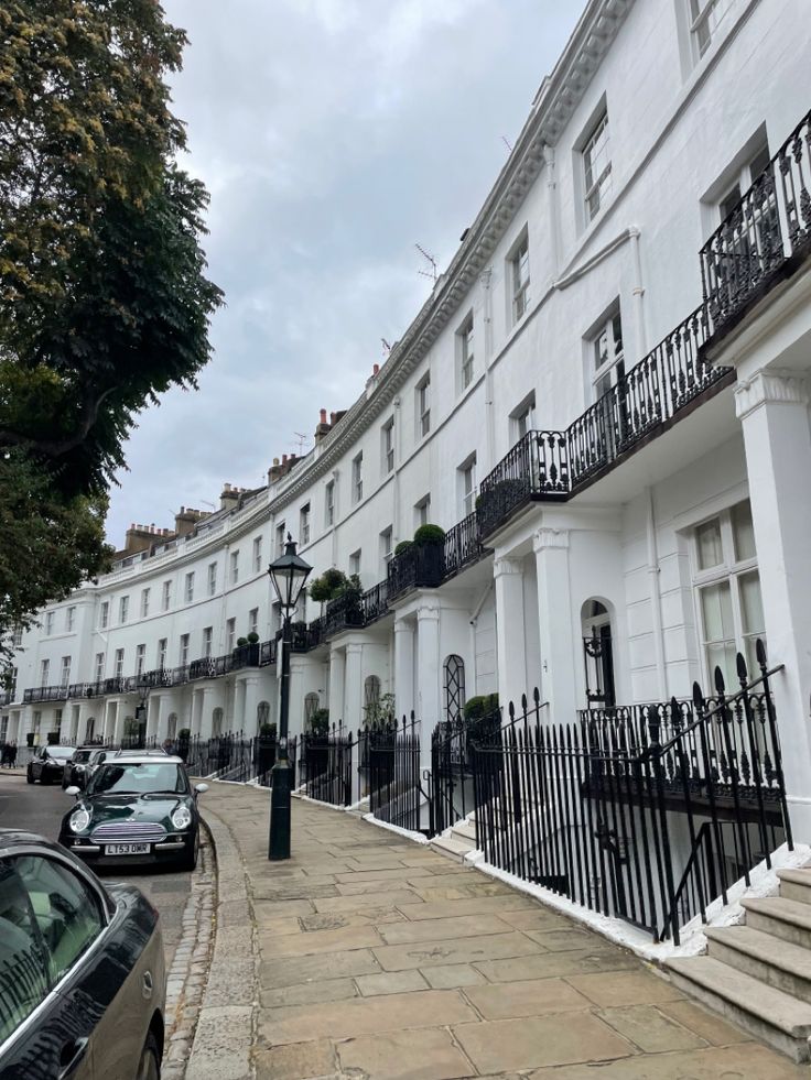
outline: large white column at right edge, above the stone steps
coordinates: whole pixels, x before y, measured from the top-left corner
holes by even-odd
[[[811,842],[811,433],[804,380],[759,371],[735,390],[743,422],[769,665],[794,840]],[[758,673],[751,673],[757,675]]]

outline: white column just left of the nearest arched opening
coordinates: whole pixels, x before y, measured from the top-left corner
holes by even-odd
[[[580,630],[575,636],[569,587],[569,531],[539,528],[532,547],[538,574],[541,700],[549,701],[545,714],[552,721],[572,723],[576,719],[574,657],[580,645]]]

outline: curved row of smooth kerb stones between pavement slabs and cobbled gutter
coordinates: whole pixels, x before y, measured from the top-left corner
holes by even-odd
[[[214,954],[194,1040],[183,1047],[184,1071],[164,1080],[251,1080],[259,1003],[258,948],[248,881],[228,826],[209,807],[205,811],[217,860]],[[171,1049],[171,1048],[170,1048]]]

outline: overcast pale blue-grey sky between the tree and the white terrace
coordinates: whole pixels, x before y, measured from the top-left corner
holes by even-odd
[[[582,0],[164,0],[191,44],[174,83],[185,165],[227,306],[196,392],[127,446],[107,534],[173,525],[312,446],[402,336],[507,157]]]

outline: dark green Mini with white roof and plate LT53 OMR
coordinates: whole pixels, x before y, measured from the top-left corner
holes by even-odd
[[[100,865],[173,862],[194,870],[199,851],[197,795],[180,757],[120,754],[108,757],[62,819],[60,843]]]

